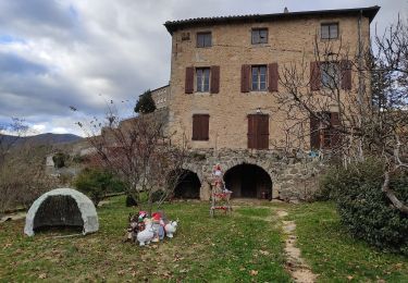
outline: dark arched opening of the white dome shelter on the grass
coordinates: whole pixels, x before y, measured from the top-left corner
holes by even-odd
[[[50,227],[70,227],[82,231],[84,220],[75,199],[71,196],[49,196],[42,201],[34,218],[35,232]]]

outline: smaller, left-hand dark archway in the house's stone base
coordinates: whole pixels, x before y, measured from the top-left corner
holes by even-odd
[[[174,198],[195,199],[200,198],[201,182],[197,174],[189,170],[183,170],[178,174],[174,189]]]

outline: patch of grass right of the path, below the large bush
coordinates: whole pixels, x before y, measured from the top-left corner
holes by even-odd
[[[408,259],[378,251],[341,225],[335,205],[292,206],[297,246],[320,282],[408,282]],[[408,236],[408,235],[407,235]]]

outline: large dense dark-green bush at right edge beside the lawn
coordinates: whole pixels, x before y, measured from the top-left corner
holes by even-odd
[[[408,255],[408,216],[392,206],[381,190],[383,164],[370,159],[348,169],[330,170],[322,180],[322,190],[337,202],[342,222],[358,238],[369,244]],[[408,174],[392,175],[391,188],[408,201]]]

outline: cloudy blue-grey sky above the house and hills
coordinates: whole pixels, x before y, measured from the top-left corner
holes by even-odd
[[[75,122],[107,101],[132,109],[169,82],[168,20],[375,4],[379,29],[408,12],[407,0],[0,0],[0,124],[83,135]]]

